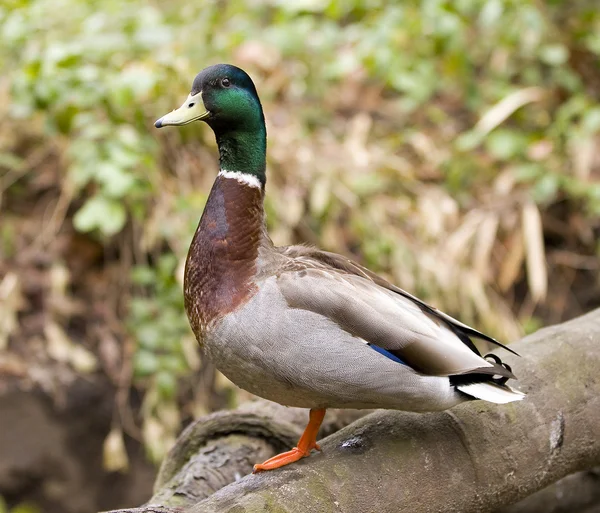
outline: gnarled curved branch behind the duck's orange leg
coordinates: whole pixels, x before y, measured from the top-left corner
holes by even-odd
[[[370,411],[330,410],[320,433],[330,435]],[[185,511],[251,473],[255,463],[293,447],[307,421],[307,410],[263,399],[202,417],[184,430],[169,452],[148,504],[111,513]]]

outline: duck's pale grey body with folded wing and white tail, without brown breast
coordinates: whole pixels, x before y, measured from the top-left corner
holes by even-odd
[[[375,283],[358,264],[311,248],[263,242],[257,293],[217,321],[204,339],[219,370],[241,388],[288,406],[433,411],[470,399],[449,376],[513,377],[467,347],[451,317],[432,314],[435,310],[424,310],[410,296]],[[354,272],[340,269],[342,264]],[[493,402],[522,398],[492,381],[475,393]]]

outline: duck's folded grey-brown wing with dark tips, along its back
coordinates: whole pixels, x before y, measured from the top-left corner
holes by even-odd
[[[289,258],[278,284],[291,307],[324,315],[425,374],[514,377],[483,359],[469,336],[501,344],[355,262],[303,246],[290,246],[283,254]]]

